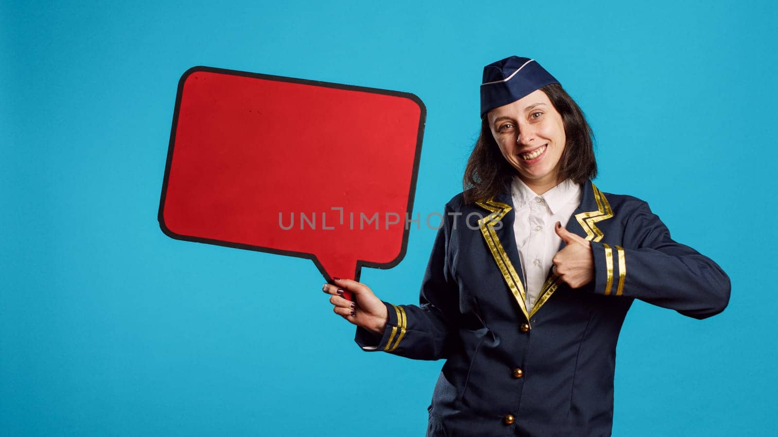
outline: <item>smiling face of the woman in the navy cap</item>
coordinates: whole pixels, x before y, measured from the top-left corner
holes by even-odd
[[[537,194],[556,185],[565,150],[565,126],[540,89],[486,115],[500,152]]]

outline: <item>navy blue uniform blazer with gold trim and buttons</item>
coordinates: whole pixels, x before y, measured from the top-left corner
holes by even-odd
[[[420,305],[385,302],[383,337],[356,332],[366,350],[446,359],[429,436],[610,435],[616,341],[633,300],[697,319],[729,302],[727,274],[675,243],[646,202],[587,181],[567,230],[591,242],[594,281],[571,289],[549,274],[527,311],[510,189],[462,199],[446,205]]]

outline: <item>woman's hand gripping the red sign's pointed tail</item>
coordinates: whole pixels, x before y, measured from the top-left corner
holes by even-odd
[[[351,279],[335,279],[335,285],[324,284],[322,291],[332,295],[330,303],[335,314],[354,323],[358,327],[370,330],[373,334],[384,334],[389,320],[384,302],[373,294],[370,287]],[[353,301],[345,299],[344,291],[352,292]]]

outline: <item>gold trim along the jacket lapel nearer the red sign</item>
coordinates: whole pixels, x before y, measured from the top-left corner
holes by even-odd
[[[513,297],[516,299],[516,302],[518,302],[521,312],[527,317],[528,323],[530,321],[530,314],[527,313],[527,305],[524,303],[526,299],[524,285],[522,285],[521,278],[513,267],[513,263],[510,262],[510,258],[508,258],[508,254],[505,252],[503,243],[499,242],[497,232],[494,231],[494,225],[499,223],[512,208],[510,205],[496,202],[491,199],[485,202],[476,202],[475,205],[491,212],[491,214],[478,220],[478,226],[481,228],[481,233],[486,241],[486,246],[489,246],[489,250],[492,252],[492,257],[494,257],[500,273],[503,274],[503,278],[505,279],[508,288],[510,288],[510,292],[513,293]]]

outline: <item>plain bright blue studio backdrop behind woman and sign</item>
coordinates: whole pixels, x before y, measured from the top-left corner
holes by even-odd
[[[482,66],[510,54],[584,108],[598,186],[731,275],[709,320],[633,306],[614,434],[776,429],[774,2],[54,3],[0,3],[3,435],[422,435],[442,362],[360,351],[310,260],[159,230],[177,82],[415,93],[424,215],[461,191]],[[434,233],[363,281],[418,302]]]

